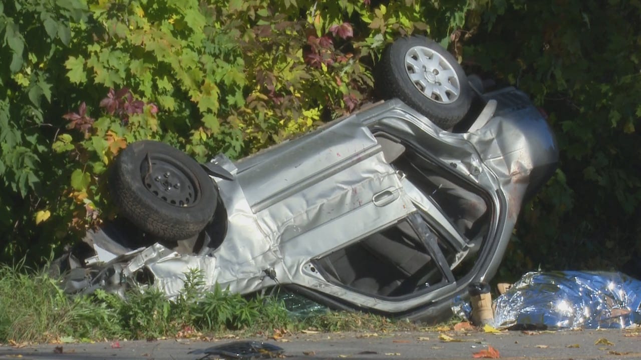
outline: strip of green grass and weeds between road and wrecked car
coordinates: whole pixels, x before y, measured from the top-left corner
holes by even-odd
[[[278,297],[243,297],[215,288],[201,291],[202,277],[187,274],[177,299],[156,290],[129,291],[126,300],[97,290],[68,297],[56,279],[24,266],[0,265],[0,343],[157,339],[275,329],[392,331],[407,322],[362,313],[315,312],[294,316]]]

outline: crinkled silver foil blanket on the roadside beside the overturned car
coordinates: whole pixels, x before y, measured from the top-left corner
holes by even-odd
[[[616,272],[529,272],[495,306],[497,327],[624,328],[641,324],[641,281]]]

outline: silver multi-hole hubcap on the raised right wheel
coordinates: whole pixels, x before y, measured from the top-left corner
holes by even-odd
[[[461,85],[452,64],[429,47],[415,46],[408,50],[405,70],[420,93],[432,101],[449,104],[458,99]]]

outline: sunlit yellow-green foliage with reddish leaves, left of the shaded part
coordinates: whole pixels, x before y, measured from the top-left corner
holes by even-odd
[[[104,172],[126,143],[237,158],[353,111],[369,100],[385,42],[428,30],[428,10],[414,1],[6,4],[3,258],[29,249],[37,261],[112,217]]]

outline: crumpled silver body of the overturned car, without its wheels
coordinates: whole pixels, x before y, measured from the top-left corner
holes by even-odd
[[[392,99],[236,162],[219,154],[205,166],[230,176],[212,172],[219,206],[187,250],[140,247],[105,227],[88,234],[94,253],[65,286],[174,297],[197,269],[205,288],[284,286],[338,309],[448,316],[470,282],[495,274],[524,199],[558,160],[525,94],[508,87],[478,101],[465,132]]]

